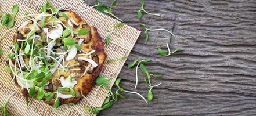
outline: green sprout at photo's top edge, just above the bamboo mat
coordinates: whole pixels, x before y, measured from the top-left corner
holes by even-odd
[[[98,2],[97,5],[95,5],[95,8],[98,9],[100,12],[103,12],[103,13],[107,13],[107,14],[110,14],[111,16],[115,17],[117,20],[120,20],[122,21],[121,19],[119,19],[117,16],[115,16],[112,12],[111,12],[111,9],[116,6],[117,4],[117,0],[114,0],[110,6],[107,6],[107,5],[103,5],[103,4],[100,4]],[[123,22],[123,21],[122,21]]]

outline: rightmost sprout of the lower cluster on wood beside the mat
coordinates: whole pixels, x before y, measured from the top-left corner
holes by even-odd
[[[153,92],[152,92],[152,88],[156,87],[156,86],[159,86],[161,85],[160,84],[157,84],[157,85],[152,85],[151,84],[151,81],[150,81],[150,77],[153,76],[153,77],[161,77],[162,75],[161,74],[149,74],[149,71],[147,70],[147,68],[144,66],[144,64],[140,64],[140,69],[142,70],[142,72],[144,74],[147,75],[147,79],[144,78],[144,82],[147,84],[147,86],[149,87],[149,92],[147,93],[147,99],[149,101],[152,101],[153,100]]]

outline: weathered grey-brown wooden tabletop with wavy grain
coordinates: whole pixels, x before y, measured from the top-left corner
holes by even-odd
[[[139,2],[120,0],[113,13],[140,30],[139,23],[145,23],[171,30],[176,37],[149,32],[146,42],[142,33],[119,75],[124,79],[121,86],[133,90],[135,68],[128,69],[127,64],[144,58],[152,59],[145,64],[150,72],[163,74],[152,82],[163,84],[153,89],[149,104],[125,93],[128,99],[118,100],[99,115],[256,115],[255,0],[146,0],[145,9],[161,16],[143,13],[140,20]],[[157,48],[166,48],[165,42],[185,51],[160,56]],[[146,96],[143,77],[140,71],[135,91]]]

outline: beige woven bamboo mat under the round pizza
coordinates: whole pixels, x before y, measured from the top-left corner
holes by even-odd
[[[12,6],[14,4],[19,6],[19,13],[16,16],[15,26],[18,26],[26,18],[18,19],[17,17],[23,16],[26,12],[31,14],[39,13],[41,6],[45,3],[44,0],[0,0],[0,10],[3,13],[11,13]],[[53,0],[52,5],[55,8],[64,8],[72,9],[72,10],[85,10],[89,8],[88,5],[82,3],[82,1],[71,1],[71,0]],[[107,36],[107,30],[113,29],[114,25],[120,23],[116,19],[107,16],[106,14],[100,13],[96,9],[90,9],[83,13],[77,13],[82,19],[84,19],[88,24],[95,26],[98,28],[99,35],[103,38]],[[0,28],[0,34],[3,35],[7,28],[5,26]],[[9,104],[8,111],[9,115],[78,115],[77,110],[74,107],[61,106],[59,109],[55,110],[52,106],[44,103],[42,100],[30,99],[30,104],[26,107],[26,102],[24,97],[21,95],[20,90],[17,88],[15,83],[12,81],[10,77],[9,71],[4,70],[6,67],[6,57],[8,56],[10,45],[12,42],[12,36],[15,34],[16,30],[9,31],[8,34],[5,35],[5,38],[1,41],[1,46],[3,48],[3,56],[0,58],[0,104],[2,104],[6,98],[10,95],[10,93],[15,92],[12,96]],[[113,59],[121,56],[128,56],[131,52],[132,48],[135,45],[136,40],[140,35],[140,31],[132,28],[130,26],[123,26],[120,28],[116,28],[115,31],[120,32],[124,36],[124,39],[118,37],[116,34],[111,35],[110,44],[106,45],[104,43],[104,49],[107,54],[107,59]],[[125,42],[125,46],[122,45],[122,40]],[[120,73],[122,66],[124,65],[125,60],[120,62],[120,66],[117,67],[116,63],[104,64],[102,73],[111,73],[109,78],[114,78],[110,82],[110,86],[114,84],[114,81],[117,78],[117,75]],[[104,95],[107,93],[107,90],[104,88],[100,88],[98,92],[98,100],[100,103],[97,103],[93,97],[95,93],[95,88],[91,90],[91,92],[87,95],[88,99],[95,104],[95,106],[102,106],[104,102]],[[89,106],[89,103],[86,100],[81,100],[77,104],[78,110],[82,111],[83,115],[93,115],[89,111],[83,110],[84,106]]]

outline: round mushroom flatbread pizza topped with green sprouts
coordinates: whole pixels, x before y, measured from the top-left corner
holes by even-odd
[[[107,57],[97,29],[70,10],[43,9],[28,19],[17,28],[8,59],[16,85],[24,97],[51,106],[77,103]]]

